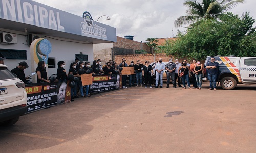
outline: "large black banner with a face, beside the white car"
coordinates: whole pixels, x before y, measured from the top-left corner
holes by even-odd
[[[67,86],[68,84],[68,86]],[[65,82],[27,84],[27,113],[70,102],[70,86]]]

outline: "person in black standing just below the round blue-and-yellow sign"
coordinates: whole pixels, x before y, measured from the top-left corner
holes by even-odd
[[[35,72],[37,74],[37,83],[44,83],[44,82],[50,83],[50,80],[47,79],[45,61],[38,62]]]

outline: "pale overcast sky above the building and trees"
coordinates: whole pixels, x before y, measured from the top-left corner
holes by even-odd
[[[88,11],[94,21],[101,15],[98,22],[116,28],[117,36],[134,36],[135,41],[145,42],[147,38],[175,37],[177,30],[174,21],[185,15],[187,8],[183,6],[183,0],[34,0],[50,7],[60,9],[78,16]],[[256,18],[256,0],[246,0],[244,4],[230,10],[235,14],[242,15],[250,12],[250,16]],[[254,24],[255,25],[255,24]],[[173,32],[172,32],[173,30]]]

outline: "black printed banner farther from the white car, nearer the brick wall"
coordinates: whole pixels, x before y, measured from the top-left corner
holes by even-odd
[[[93,76],[93,84],[90,86],[91,93],[119,89],[119,80],[120,75]]]

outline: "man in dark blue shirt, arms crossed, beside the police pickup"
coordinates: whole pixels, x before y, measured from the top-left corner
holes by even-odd
[[[210,58],[210,62],[206,64],[206,68],[208,71],[208,78],[210,81],[209,90],[211,90],[212,88],[214,90],[217,90],[216,89],[216,79],[217,79],[217,75],[218,75],[218,67],[219,67],[219,63],[215,62],[214,57]]]

